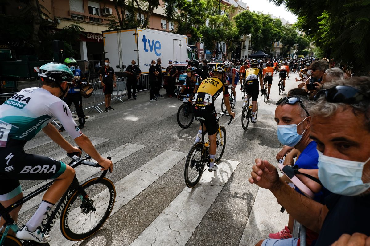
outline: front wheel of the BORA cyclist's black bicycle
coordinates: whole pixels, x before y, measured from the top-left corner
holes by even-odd
[[[115,201],[115,187],[110,179],[98,177],[81,184],[96,211],[92,211],[76,190],[65,204],[60,218],[60,231],[71,241],[80,241],[92,236],[107,221]]]

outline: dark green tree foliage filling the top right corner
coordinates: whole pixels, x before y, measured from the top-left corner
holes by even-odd
[[[305,31],[320,57],[347,63],[357,75],[370,75],[370,0],[270,0],[285,4],[298,15],[296,26]],[[309,10],[309,11],[307,11]]]

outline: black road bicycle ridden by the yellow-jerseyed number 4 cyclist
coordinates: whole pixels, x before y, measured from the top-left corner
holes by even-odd
[[[221,118],[223,115],[230,116],[230,121],[228,125],[232,121],[232,115],[229,114],[223,114],[223,113],[216,113],[219,114],[217,119]],[[203,130],[203,125],[205,119],[202,117],[197,117],[195,120],[201,122],[202,126],[202,141],[195,143],[188,154],[188,157],[186,157],[185,162],[185,184],[189,188],[194,188],[198,183],[199,180],[201,180],[203,171],[205,171],[209,167],[209,141],[205,142],[204,137],[207,131]],[[218,132],[216,135],[216,156],[215,156],[215,163],[218,163],[223,155],[223,152],[225,151],[226,146],[226,129],[222,125],[218,128]],[[205,167],[206,166],[206,167]]]

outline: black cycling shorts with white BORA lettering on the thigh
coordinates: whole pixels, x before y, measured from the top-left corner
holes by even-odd
[[[22,192],[19,180],[56,179],[66,164],[46,156],[27,154],[23,146],[0,151],[0,201],[16,197]]]

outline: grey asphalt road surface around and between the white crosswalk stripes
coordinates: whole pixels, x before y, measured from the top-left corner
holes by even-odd
[[[289,80],[286,80],[285,92],[296,87],[295,77],[298,76],[290,74]],[[219,122],[226,127],[227,133],[226,149],[222,159],[236,161],[239,164],[211,207],[202,218],[199,218],[200,223],[191,237],[187,242],[184,239],[186,245],[239,245],[258,191],[256,185],[248,182],[254,160],[260,157],[277,164],[275,156],[280,150],[280,143],[276,136],[274,112],[276,101],[282,97],[278,94],[278,80],[278,75],[274,75],[270,99],[266,103],[259,96],[258,121],[256,124],[250,123],[246,131],[242,129],[240,117],[243,104],[240,85],[236,87],[237,104],[233,109],[236,113],[235,120],[230,125],[226,125],[228,119],[222,117]],[[85,114],[90,116],[90,120],[83,129],[84,134],[107,139],[96,146],[98,152],[105,153],[126,143],[145,146],[114,164],[113,173],[107,174],[114,183],[127,177],[166,150],[188,153],[194,143],[199,123],[194,121],[191,127],[180,128],[176,122],[176,112],[181,101],[168,98],[163,89],[161,93],[164,98],[153,102],[149,101],[149,91],[138,93],[137,100],[127,101],[124,98],[126,104],[114,103],[112,107],[115,110],[108,113],[85,111]],[[216,111],[221,111],[220,97],[215,105]],[[42,136],[44,134],[41,132],[36,138]],[[70,137],[66,139],[73,142]],[[42,155],[57,148],[55,143],[47,143],[29,149],[27,152]],[[98,233],[79,244],[130,245],[184,190],[185,159],[186,157],[179,158],[177,164],[112,215]],[[68,162],[68,158],[63,161]],[[37,183],[40,182],[21,181],[24,190],[32,188]],[[207,200],[207,194],[203,195],[203,198]],[[182,207],[186,204],[177,206]],[[21,214],[19,224],[26,222],[36,208]],[[67,241],[60,240],[51,245],[64,244],[64,242]],[[148,242],[148,245],[151,243]],[[159,245],[184,244],[174,241]]]

